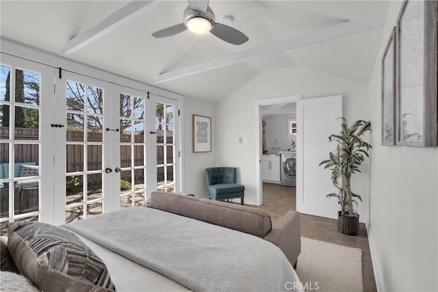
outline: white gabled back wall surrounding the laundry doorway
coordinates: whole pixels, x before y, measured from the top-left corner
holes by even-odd
[[[368,120],[368,100],[365,98],[366,85],[348,79],[326,75],[307,68],[289,68],[263,75],[246,83],[218,103],[216,117],[216,163],[232,165],[239,169],[238,180],[245,185],[245,202],[257,204],[256,168],[259,158],[255,150],[255,101],[274,96],[302,94],[303,98],[342,94],[344,96],[344,116],[348,121]],[[239,144],[239,137],[248,144]],[[368,216],[368,162],[363,165],[362,174],[353,178],[353,190],[363,196],[359,214],[366,220]],[[322,195],[323,196],[323,195]]]

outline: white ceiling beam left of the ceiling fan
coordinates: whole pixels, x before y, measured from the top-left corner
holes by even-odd
[[[153,10],[153,8],[160,5],[162,2],[163,1],[153,0],[129,2],[110,16],[107,16],[107,18],[100,23],[69,40],[62,51],[62,55],[70,55],[71,53],[85,47],[87,44],[90,44],[90,42],[94,42],[94,40],[97,40],[106,34],[110,34],[110,32],[118,29],[118,27],[133,21],[145,12]]]

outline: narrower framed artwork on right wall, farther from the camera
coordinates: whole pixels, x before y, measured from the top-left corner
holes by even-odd
[[[382,57],[382,145],[396,144],[396,27]]]

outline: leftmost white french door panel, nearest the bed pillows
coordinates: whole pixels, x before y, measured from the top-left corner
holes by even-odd
[[[51,220],[53,68],[1,53],[0,234],[8,222]],[[46,139],[49,137],[49,140]]]

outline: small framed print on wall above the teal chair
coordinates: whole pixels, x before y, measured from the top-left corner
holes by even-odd
[[[193,115],[193,152],[211,152],[211,118]]]

